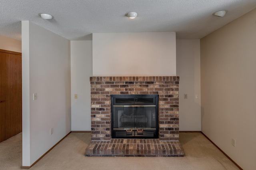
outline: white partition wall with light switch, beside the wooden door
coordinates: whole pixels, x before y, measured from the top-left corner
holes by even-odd
[[[22,166],[71,131],[70,86],[70,41],[22,21]]]

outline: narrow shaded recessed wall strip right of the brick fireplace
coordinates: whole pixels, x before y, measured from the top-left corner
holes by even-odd
[[[200,40],[177,40],[176,61],[180,131],[201,131]]]

